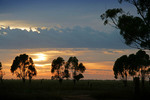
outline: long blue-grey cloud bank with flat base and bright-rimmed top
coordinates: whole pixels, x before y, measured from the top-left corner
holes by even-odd
[[[0,29],[0,49],[15,48],[126,48],[116,33],[107,34],[90,27],[36,28],[37,31]],[[40,33],[40,34],[39,34]]]

